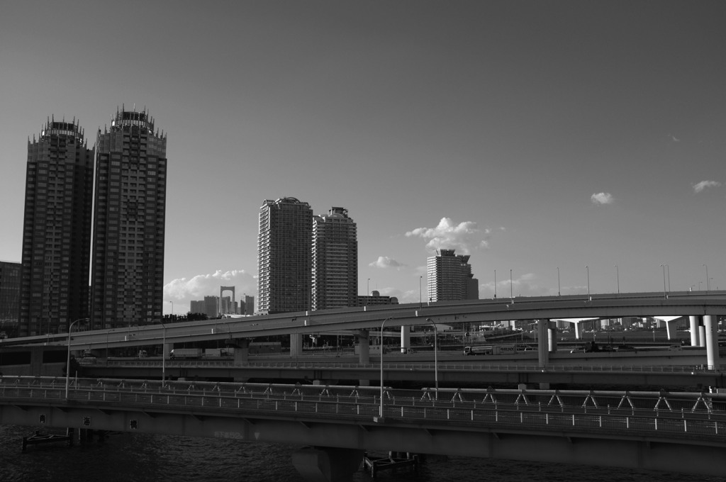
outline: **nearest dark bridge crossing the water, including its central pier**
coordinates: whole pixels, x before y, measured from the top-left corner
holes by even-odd
[[[328,481],[364,450],[726,473],[718,394],[80,379],[65,397],[64,383],[0,377],[0,424],[316,446],[293,463],[308,474],[327,464],[315,480]]]

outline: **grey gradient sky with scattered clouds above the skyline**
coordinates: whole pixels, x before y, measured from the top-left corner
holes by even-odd
[[[256,295],[258,212],[358,226],[359,294],[726,288],[726,2],[0,0],[0,260],[28,138],[167,134],[164,311]],[[228,294],[228,293],[227,293]]]

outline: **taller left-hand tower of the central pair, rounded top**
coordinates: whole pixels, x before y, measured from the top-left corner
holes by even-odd
[[[313,211],[295,197],[265,200],[257,236],[259,314],[310,309]]]

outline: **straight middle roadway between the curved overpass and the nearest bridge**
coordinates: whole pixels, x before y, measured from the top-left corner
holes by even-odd
[[[685,388],[701,390],[703,387],[726,387],[726,375],[703,367],[702,364],[619,364],[618,359],[591,360],[587,364],[550,364],[542,369],[537,360],[509,360],[502,362],[407,362],[388,361],[383,364],[384,377],[389,383],[433,385],[438,377],[440,386],[527,385],[547,387],[566,386],[618,386],[643,389],[644,387]],[[642,361],[647,362],[647,361]],[[661,361],[662,362],[662,361]],[[285,380],[289,383],[359,383],[369,380],[380,383],[380,364],[359,364],[340,361],[264,361],[233,362],[223,360],[196,360],[166,362],[137,359],[129,362],[99,359],[95,364],[82,365],[83,377],[160,380],[162,368],[168,379],[266,381]]]

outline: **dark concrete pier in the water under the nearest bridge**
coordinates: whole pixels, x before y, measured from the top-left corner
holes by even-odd
[[[293,466],[309,482],[348,482],[359,469],[364,452],[333,447],[306,447],[293,453]]]

